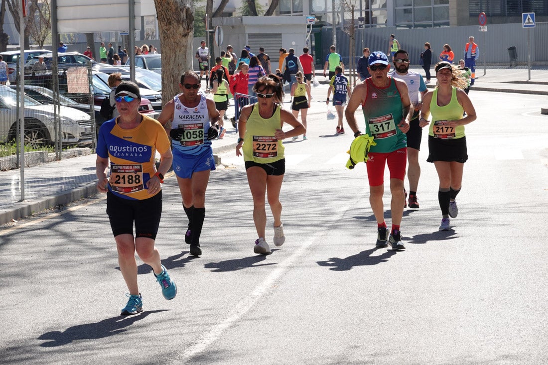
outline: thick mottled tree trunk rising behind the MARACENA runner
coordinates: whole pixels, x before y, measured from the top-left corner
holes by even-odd
[[[192,0],[154,0],[162,49],[162,103],[179,93],[181,74],[192,70]]]

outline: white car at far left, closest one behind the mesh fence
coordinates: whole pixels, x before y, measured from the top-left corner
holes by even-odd
[[[16,103],[15,90],[0,85],[0,143],[15,139]],[[66,106],[60,107],[62,145],[90,145],[93,142],[93,126],[89,115]],[[37,147],[51,145],[55,140],[53,105],[41,104],[25,95],[25,144]]]

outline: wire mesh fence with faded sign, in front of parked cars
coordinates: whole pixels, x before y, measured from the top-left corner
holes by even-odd
[[[55,67],[55,66],[54,66]],[[57,68],[57,67],[56,67]],[[21,166],[19,80],[25,80],[24,151],[25,164],[72,147],[96,145],[95,104],[90,64],[62,64],[57,70],[28,61],[15,82],[0,85],[0,169]],[[56,93],[56,85],[59,93]],[[98,110],[99,111],[99,110]],[[27,153],[28,152],[28,153]],[[15,161],[15,162],[14,162]],[[45,161],[38,161],[45,162]]]

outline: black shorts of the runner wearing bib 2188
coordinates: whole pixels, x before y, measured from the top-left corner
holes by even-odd
[[[135,222],[135,237],[156,239],[162,217],[162,191],[144,200],[124,199],[109,191],[106,195],[106,213],[115,237],[133,235]]]

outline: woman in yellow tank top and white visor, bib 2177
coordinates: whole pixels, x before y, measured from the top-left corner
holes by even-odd
[[[476,120],[476,110],[463,91],[467,82],[460,70],[449,62],[439,62],[436,67],[438,86],[423,98],[419,126],[430,124],[426,161],[433,162],[439,178],[438,201],[442,210],[440,231],[450,230],[449,216],[456,218],[459,210],[455,197],[463,181],[464,163],[468,159],[464,126]],[[463,117],[463,111],[466,117]]]

